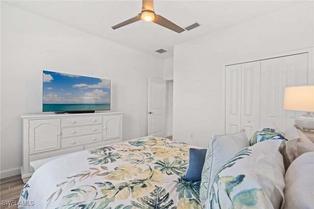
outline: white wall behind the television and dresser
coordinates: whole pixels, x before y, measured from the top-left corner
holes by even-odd
[[[21,114],[42,111],[42,71],[111,79],[123,138],[147,135],[148,77],[163,60],[1,2],[1,178],[22,164]]]

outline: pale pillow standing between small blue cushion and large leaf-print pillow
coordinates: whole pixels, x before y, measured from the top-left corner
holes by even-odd
[[[207,149],[202,170],[200,201],[204,206],[211,184],[220,168],[244,147],[249,146],[245,130],[238,133],[214,135]]]

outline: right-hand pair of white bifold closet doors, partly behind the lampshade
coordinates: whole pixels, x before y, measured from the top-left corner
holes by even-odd
[[[307,85],[308,76],[308,53],[261,61],[261,125],[272,121],[284,131],[294,124],[302,112],[284,110],[285,87]]]

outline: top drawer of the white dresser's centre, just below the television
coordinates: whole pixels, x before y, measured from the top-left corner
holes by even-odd
[[[102,116],[62,118],[62,127],[86,126],[102,124]]]

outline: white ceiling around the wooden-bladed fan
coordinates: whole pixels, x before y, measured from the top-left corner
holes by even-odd
[[[297,1],[270,0],[155,0],[156,14],[185,27],[201,24],[190,31],[176,33],[154,23],[138,21],[113,30],[142,8],[141,0],[11,0],[13,6],[75,27],[107,40],[148,53],[161,59],[173,56],[173,46],[222,28],[282,9]],[[159,54],[158,49],[168,52]]]

